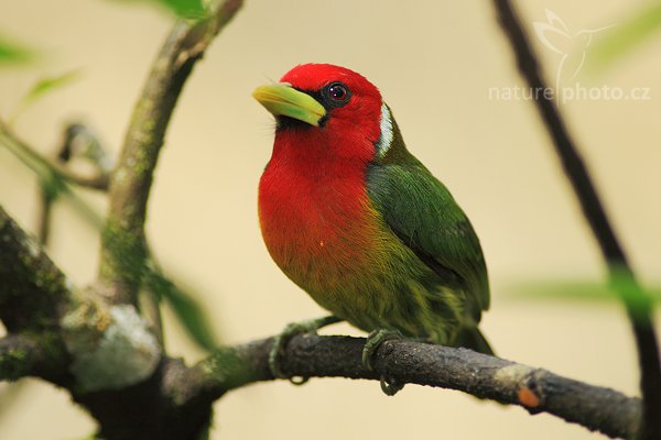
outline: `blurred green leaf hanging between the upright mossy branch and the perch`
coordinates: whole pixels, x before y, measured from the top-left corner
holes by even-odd
[[[174,314],[191,339],[207,351],[216,349],[219,343],[199,304],[158,270],[148,266],[148,271],[149,273],[145,276],[147,288],[172,306]]]

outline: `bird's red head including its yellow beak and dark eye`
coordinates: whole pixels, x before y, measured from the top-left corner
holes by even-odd
[[[384,105],[364,76],[330,64],[303,64],[253,96],[275,116],[274,154],[297,148],[290,153],[315,161],[375,157]]]

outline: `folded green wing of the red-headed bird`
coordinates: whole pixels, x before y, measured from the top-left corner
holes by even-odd
[[[481,310],[489,307],[487,267],[468,218],[445,186],[400,150],[397,161],[370,165],[367,188],[393,233],[443,283],[463,287],[467,310],[478,322]]]

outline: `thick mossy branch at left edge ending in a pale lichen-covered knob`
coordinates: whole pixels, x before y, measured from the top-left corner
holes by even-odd
[[[6,353],[7,362],[25,358],[30,363],[22,374],[36,374],[31,366],[43,366],[41,377],[58,385],[67,381],[67,388],[75,384],[80,394],[139,383],[163,358],[133,306],[109,306],[90,292],[74,290],[36,240],[1,207],[0,320],[10,337],[25,336],[21,341],[30,342],[19,351],[8,345],[13,351]]]

